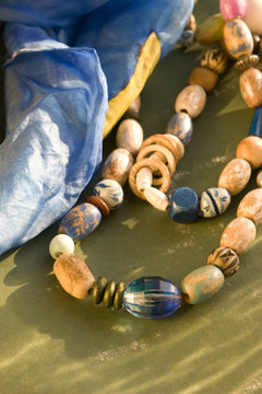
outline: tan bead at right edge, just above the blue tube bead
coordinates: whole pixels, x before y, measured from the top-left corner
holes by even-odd
[[[251,108],[262,105],[262,73],[260,70],[249,68],[243,71],[239,79],[243,100]]]

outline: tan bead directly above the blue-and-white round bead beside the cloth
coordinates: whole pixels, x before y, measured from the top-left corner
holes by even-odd
[[[115,149],[105,161],[102,170],[102,178],[117,181],[123,186],[132,165],[133,157],[127,149]]]

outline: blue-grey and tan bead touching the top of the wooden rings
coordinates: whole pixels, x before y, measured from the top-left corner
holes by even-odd
[[[186,113],[172,115],[166,128],[166,132],[180,139],[183,146],[187,146],[193,134],[193,124],[191,117]]]

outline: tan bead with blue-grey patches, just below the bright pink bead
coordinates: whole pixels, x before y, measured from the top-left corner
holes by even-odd
[[[247,24],[240,19],[227,21],[224,26],[224,44],[234,59],[253,51],[253,38]]]

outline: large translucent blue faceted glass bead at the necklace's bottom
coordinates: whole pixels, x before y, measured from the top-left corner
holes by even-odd
[[[157,276],[135,279],[123,292],[123,305],[138,317],[164,318],[176,312],[180,304],[178,288]]]

